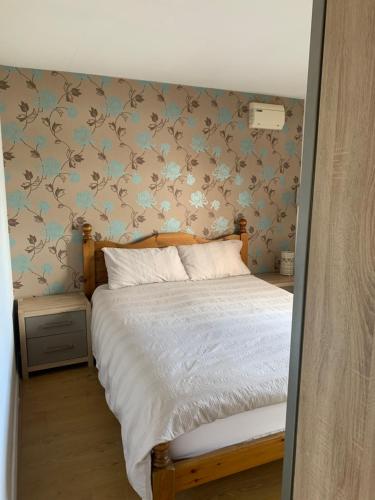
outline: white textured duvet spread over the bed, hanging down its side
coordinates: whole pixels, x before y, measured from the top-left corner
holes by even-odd
[[[152,498],[155,445],[286,400],[292,294],[239,276],[103,285],[92,301],[99,379],[143,499]]]

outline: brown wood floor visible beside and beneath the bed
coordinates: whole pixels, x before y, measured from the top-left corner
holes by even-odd
[[[138,500],[120,426],[95,369],[33,376],[22,386],[19,500]],[[281,462],[181,492],[178,500],[278,500]]]

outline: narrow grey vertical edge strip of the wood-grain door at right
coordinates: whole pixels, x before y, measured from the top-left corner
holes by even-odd
[[[310,220],[318,135],[320,84],[323,61],[326,0],[313,0],[309,70],[303,126],[301,185],[296,235],[296,260],[289,385],[285,430],[282,500],[292,500],[298,425],[306,275],[309,258]]]

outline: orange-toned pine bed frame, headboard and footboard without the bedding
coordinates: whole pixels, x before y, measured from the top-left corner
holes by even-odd
[[[220,240],[241,240],[241,258],[247,265],[247,221],[239,221],[239,234],[230,234],[208,240],[187,233],[159,233],[136,243],[120,244],[114,241],[95,241],[92,226],[83,225],[83,274],[84,290],[91,298],[95,288],[108,282],[102,248],[162,248],[176,245],[192,245]],[[154,500],[173,500],[175,493],[200,484],[229,476],[283,458],[284,433],[246,441],[215,450],[194,458],[172,460],[169,442],[161,443],[152,450],[152,491]]]

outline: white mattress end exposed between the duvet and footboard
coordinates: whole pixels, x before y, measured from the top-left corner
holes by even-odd
[[[175,460],[251,441],[285,430],[286,403],[263,406],[203,424],[174,439],[170,445]]]

